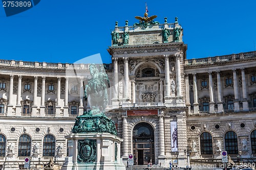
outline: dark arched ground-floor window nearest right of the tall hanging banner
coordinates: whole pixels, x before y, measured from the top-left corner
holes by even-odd
[[[212,154],[212,139],[211,139],[210,133],[204,132],[200,135],[200,147],[201,147],[201,155]]]

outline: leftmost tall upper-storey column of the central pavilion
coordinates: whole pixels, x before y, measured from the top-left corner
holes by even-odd
[[[112,105],[118,105],[118,59],[114,58],[114,98]]]

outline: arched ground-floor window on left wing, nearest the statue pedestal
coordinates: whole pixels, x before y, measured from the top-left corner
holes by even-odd
[[[44,137],[44,144],[42,145],[42,156],[54,156],[55,138],[53,135],[46,135]]]

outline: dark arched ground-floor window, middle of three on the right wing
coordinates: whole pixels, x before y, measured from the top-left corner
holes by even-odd
[[[228,154],[238,154],[238,136],[233,131],[225,134],[225,149]]]

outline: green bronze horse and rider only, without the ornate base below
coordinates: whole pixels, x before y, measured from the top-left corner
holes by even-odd
[[[103,65],[100,66],[100,71],[95,64],[90,64],[89,69],[91,79],[88,80],[88,84],[85,86],[85,97],[87,99],[90,95],[92,113],[104,112],[109,102],[107,87],[110,87],[110,84],[108,75],[105,74]]]

